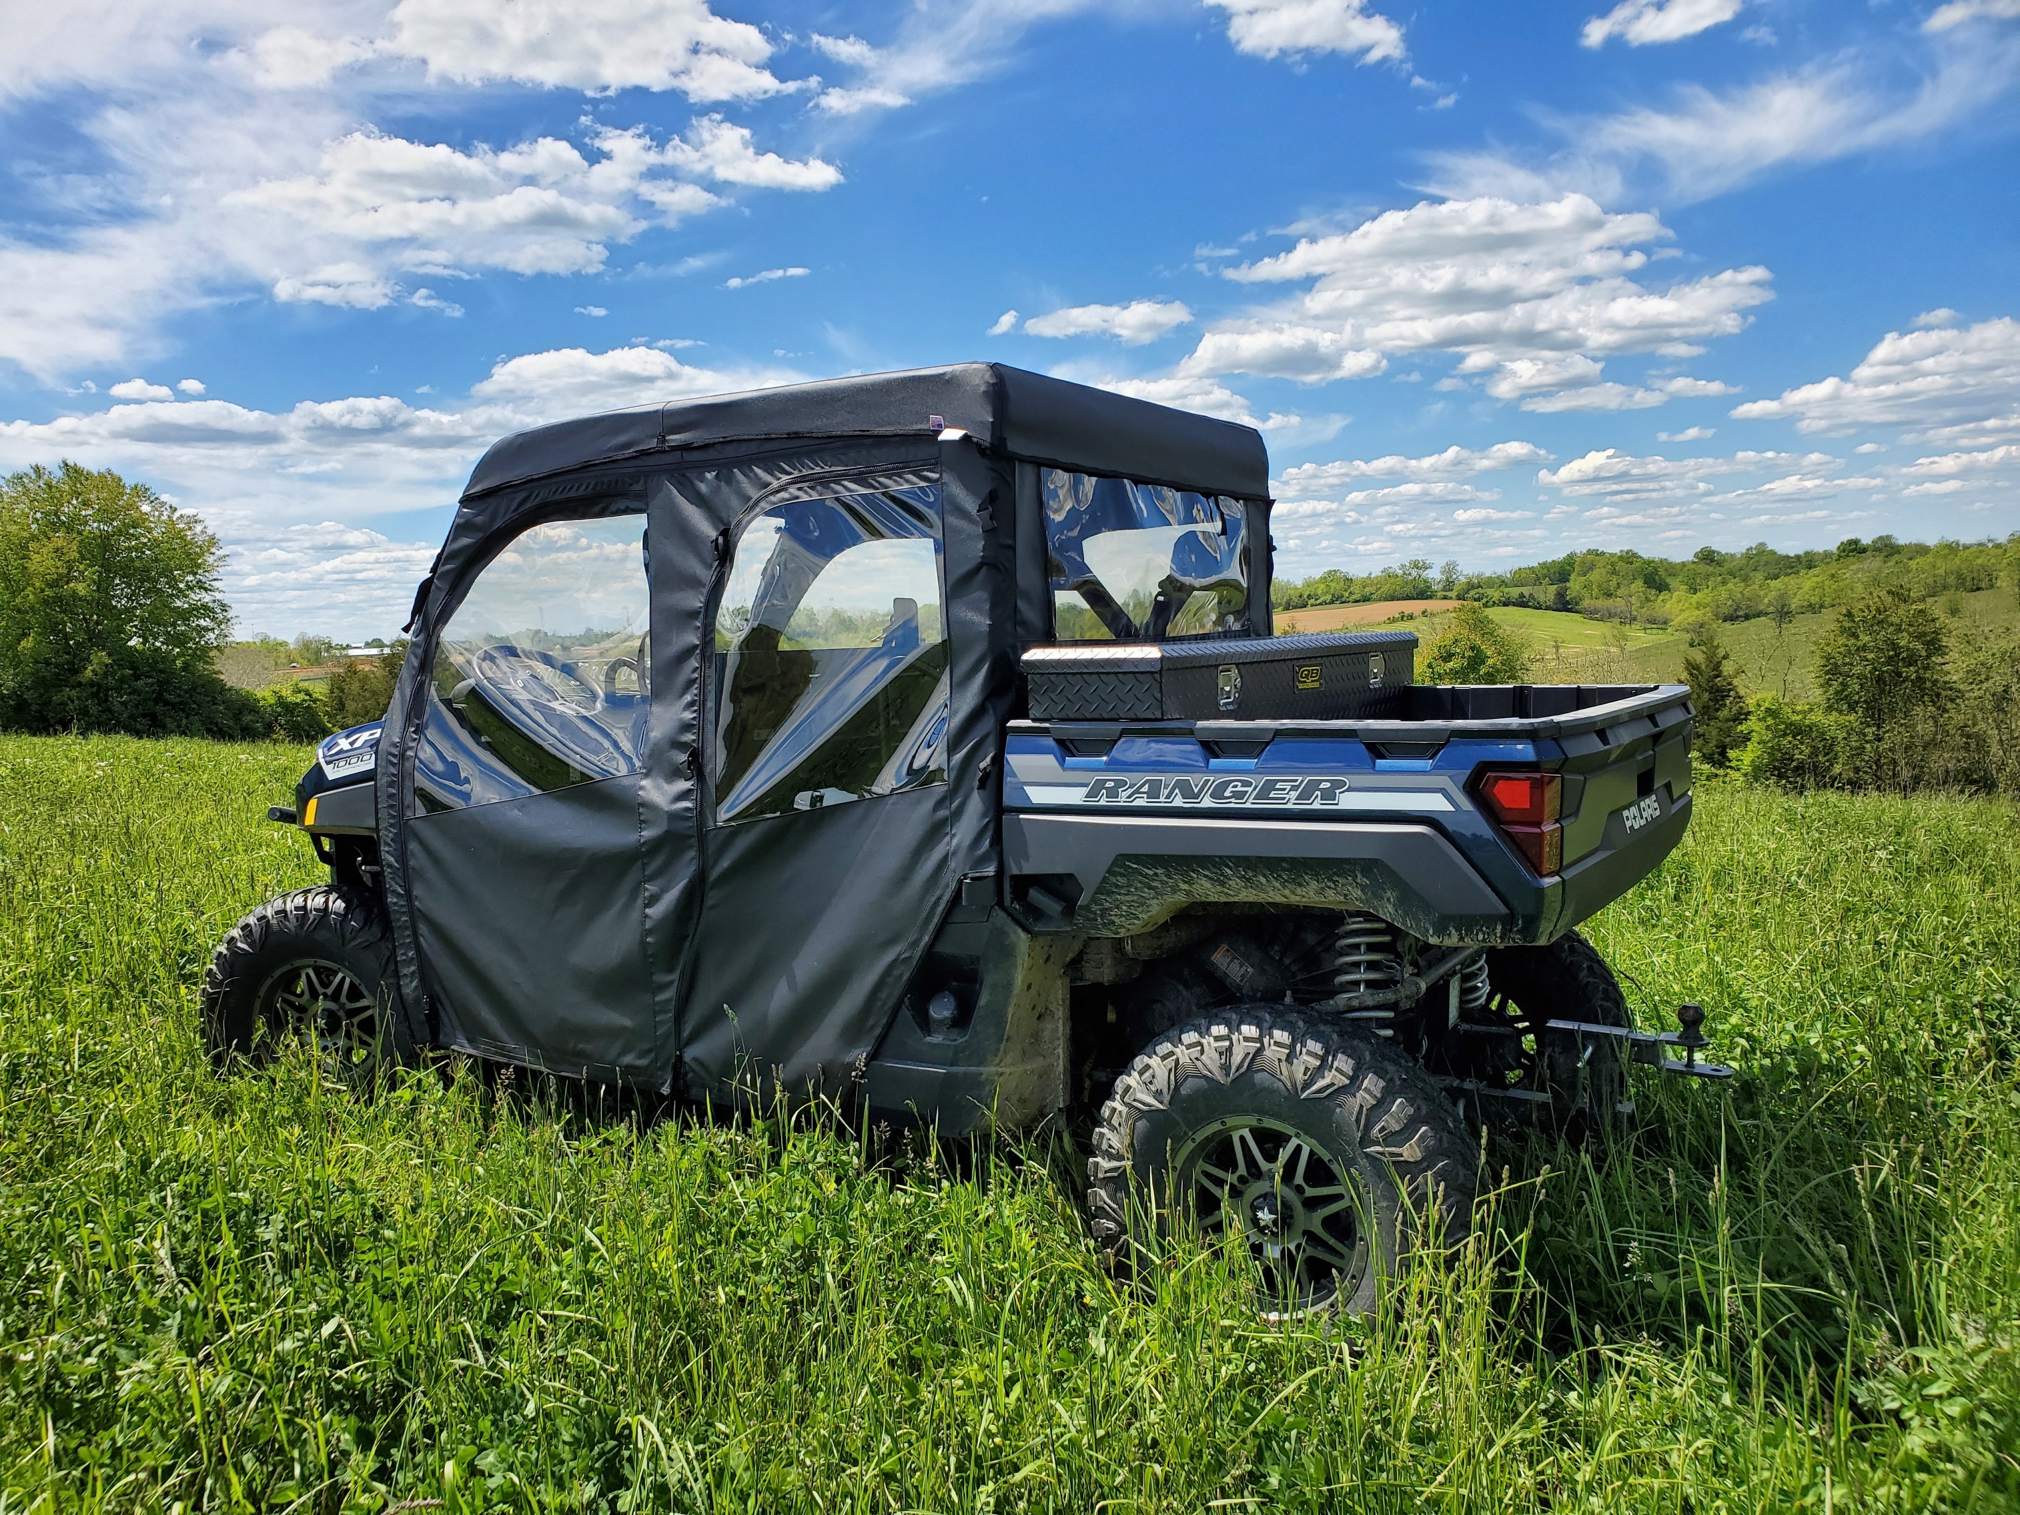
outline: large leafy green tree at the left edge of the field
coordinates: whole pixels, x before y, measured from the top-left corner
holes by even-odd
[[[117,473],[0,481],[0,723],[30,731],[263,735],[214,659],[230,630],[222,547]]]

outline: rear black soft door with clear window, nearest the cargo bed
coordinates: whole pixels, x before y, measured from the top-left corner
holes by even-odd
[[[937,477],[808,483],[731,533],[707,659],[689,1089],[846,1083],[951,891]]]

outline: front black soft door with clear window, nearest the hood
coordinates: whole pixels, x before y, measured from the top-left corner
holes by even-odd
[[[576,1077],[671,1063],[644,947],[644,523],[545,521],[495,551],[436,632],[414,749],[408,891],[444,1030]]]

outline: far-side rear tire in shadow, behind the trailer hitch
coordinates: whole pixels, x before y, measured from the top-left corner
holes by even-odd
[[[1572,1032],[1543,1030],[1549,1020],[1634,1024],[1620,980],[1598,947],[1578,931],[1568,931],[1547,947],[1499,947],[1487,953],[1487,980],[1493,994],[1531,1026],[1537,1056],[1525,1083],[1551,1097],[1549,1129],[1572,1139],[1622,1133],[1628,1099],[1626,1044],[1610,1036],[1582,1040]]]

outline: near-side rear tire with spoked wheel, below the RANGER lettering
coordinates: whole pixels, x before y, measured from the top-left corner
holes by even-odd
[[[1208,1234],[1248,1236],[1273,1315],[1374,1309],[1384,1277],[1464,1240],[1479,1164],[1458,1109],[1414,1060],[1260,1004],[1157,1036],[1115,1081],[1093,1149],[1087,1208],[1111,1265],[1149,1254],[1176,1206]]]

